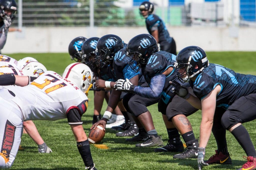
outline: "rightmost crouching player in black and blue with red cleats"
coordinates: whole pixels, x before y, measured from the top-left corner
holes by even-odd
[[[256,76],[244,75],[209,63],[205,51],[188,46],[179,51],[176,58],[179,79],[189,81],[194,95],[177,82],[175,93],[186,96],[187,101],[202,110],[198,168],[208,164],[231,164],[227,149],[226,130],[232,133],[247,154],[247,162],[240,169],[256,169],[256,152],[250,135],[242,123],[255,119]],[[216,154],[204,161],[205,148],[211,135],[217,142]]]

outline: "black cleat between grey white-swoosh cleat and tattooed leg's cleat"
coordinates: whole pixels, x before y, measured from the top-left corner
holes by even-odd
[[[165,145],[164,147],[155,149],[155,152],[183,152],[183,151],[184,151],[184,147],[182,142],[176,143],[170,139],[168,140],[167,145]]]

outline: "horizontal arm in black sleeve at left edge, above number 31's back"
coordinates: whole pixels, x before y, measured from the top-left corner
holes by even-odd
[[[0,75],[0,85],[8,86],[8,85],[17,85],[17,86],[26,86],[29,82],[32,82],[36,79],[36,77],[29,76],[19,76],[15,74],[2,74]]]

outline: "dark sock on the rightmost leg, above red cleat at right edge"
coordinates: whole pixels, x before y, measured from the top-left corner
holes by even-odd
[[[243,125],[240,125],[231,132],[241,145],[247,156],[256,156],[249,133]]]

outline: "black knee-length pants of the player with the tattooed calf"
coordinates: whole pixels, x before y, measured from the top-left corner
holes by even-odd
[[[193,89],[188,88],[190,94],[194,95]],[[195,113],[198,109],[194,108],[189,102],[178,95],[175,95],[170,103],[166,105],[161,99],[158,102],[158,111],[162,114],[166,114],[168,121],[172,121],[172,118],[178,114],[184,114],[189,116]]]

